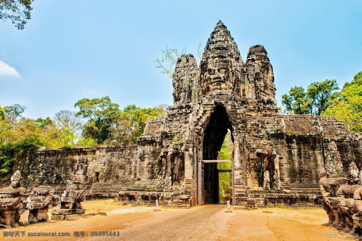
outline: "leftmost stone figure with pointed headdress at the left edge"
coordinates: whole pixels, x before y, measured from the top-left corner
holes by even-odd
[[[25,212],[21,195],[26,193],[26,189],[20,186],[21,179],[20,171],[16,171],[10,179],[11,185],[0,189],[0,222],[5,227],[19,227],[20,215]]]

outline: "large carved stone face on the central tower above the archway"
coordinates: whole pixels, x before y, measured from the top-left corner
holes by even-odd
[[[230,71],[226,63],[211,63],[202,73],[202,87],[206,93],[231,88]]]

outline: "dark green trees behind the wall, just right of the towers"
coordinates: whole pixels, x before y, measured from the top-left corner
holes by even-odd
[[[321,115],[328,108],[331,95],[338,89],[334,79],[313,82],[307,91],[302,86],[294,86],[290,88],[288,94],[282,95],[282,105],[285,107],[285,112]]]

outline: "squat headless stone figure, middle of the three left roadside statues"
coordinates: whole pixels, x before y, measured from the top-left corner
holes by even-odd
[[[51,186],[41,185],[31,190],[26,199],[29,209],[28,223],[45,222],[49,219],[48,209],[58,206],[59,196]]]

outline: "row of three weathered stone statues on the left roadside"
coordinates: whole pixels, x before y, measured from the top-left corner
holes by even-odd
[[[21,195],[26,189],[21,187],[20,171],[11,177],[9,187],[0,189],[0,228],[18,227],[20,216],[29,210],[28,223],[37,223],[49,219],[48,209],[58,206],[60,209],[52,210],[54,220],[73,220],[75,216],[85,213],[80,202],[85,201],[85,196],[91,192],[93,178],[87,173],[87,157],[80,156],[73,169],[73,175],[67,180],[67,188],[62,197],[54,194],[55,189],[41,185],[31,190],[26,202]]]

